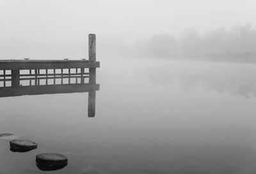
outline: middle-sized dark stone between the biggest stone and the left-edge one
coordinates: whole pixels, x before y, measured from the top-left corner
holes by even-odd
[[[13,152],[28,152],[36,149],[37,144],[29,140],[12,140],[10,141],[10,147]]]

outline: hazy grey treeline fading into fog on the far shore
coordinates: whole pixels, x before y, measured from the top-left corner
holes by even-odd
[[[131,46],[119,45],[129,56],[156,59],[207,59],[216,61],[254,62],[256,60],[256,27],[243,25],[198,34],[189,29],[175,37],[157,34]]]

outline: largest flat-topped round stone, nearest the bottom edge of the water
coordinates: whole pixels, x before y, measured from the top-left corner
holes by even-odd
[[[36,163],[45,167],[66,166],[68,159],[61,154],[42,153],[36,155]]]

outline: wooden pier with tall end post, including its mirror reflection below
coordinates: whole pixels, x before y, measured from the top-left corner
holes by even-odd
[[[88,92],[88,117],[94,117],[95,51],[95,34],[89,34],[88,61],[0,61],[0,97]]]

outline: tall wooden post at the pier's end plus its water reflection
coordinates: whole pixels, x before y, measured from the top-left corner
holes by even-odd
[[[96,35],[89,34],[89,61],[96,61]],[[96,83],[96,68],[89,68],[89,83]],[[88,92],[88,117],[95,117],[96,92]]]

